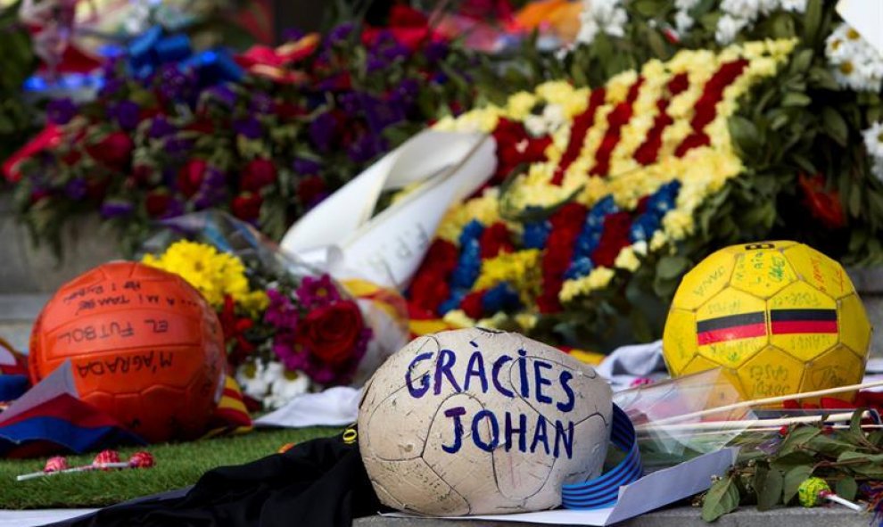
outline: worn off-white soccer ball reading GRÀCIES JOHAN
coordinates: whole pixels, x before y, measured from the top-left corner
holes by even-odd
[[[359,405],[359,449],[377,496],[423,515],[561,504],[601,473],[613,404],[590,366],[517,333],[420,337],[389,358]]]

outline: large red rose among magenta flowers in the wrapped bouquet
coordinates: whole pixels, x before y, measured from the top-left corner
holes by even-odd
[[[351,358],[365,323],[354,301],[313,309],[301,319],[297,340],[318,359],[340,366]]]

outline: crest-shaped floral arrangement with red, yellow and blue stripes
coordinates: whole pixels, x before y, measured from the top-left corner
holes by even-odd
[[[497,179],[442,220],[412,313],[601,349],[660,333],[660,297],[743,183],[728,124],[795,45],[685,50],[592,90],[551,81],[440,121],[491,133]],[[612,334],[621,318],[632,327]]]

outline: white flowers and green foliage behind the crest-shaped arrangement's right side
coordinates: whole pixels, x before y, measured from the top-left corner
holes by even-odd
[[[839,4],[877,6],[822,0],[586,2],[582,45],[560,67],[581,68],[584,82],[597,83],[681,49],[794,38],[788,69],[730,120],[744,176],[730,191],[730,213],[711,230],[796,239],[847,265],[879,264],[883,54],[866,40],[879,35],[879,27],[862,36],[841,17]],[[872,27],[879,14],[863,18]]]

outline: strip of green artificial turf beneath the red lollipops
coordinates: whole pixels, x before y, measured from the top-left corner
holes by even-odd
[[[243,435],[187,443],[120,449],[120,458],[138,450],[153,454],[150,469],[62,473],[16,482],[21,473],[43,469],[45,458],[0,460],[0,508],[107,506],[139,496],[192,485],[216,466],[239,465],[276,453],[285,443],[307,441],[340,432],[338,428],[262,429]],[[68,456],[68,465],[88,465],[95,452]]]

